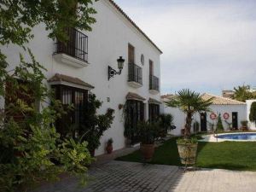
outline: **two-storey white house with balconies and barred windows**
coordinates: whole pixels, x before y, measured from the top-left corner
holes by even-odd
[[[132,125],[159,113],[162,52],[112,0],[97,1],[94,8],[97,14],[92,32],[70,29],[69,42],[64,45],[49,39],[42,24],[33,29],[34,38],[28,47],[47,69],[45,83],[58,91],[64,104],[79,105],[92,92],[103,102],[98,113],[105,113],[108,108],[115,110],[113,125],[104,132],[97,155],[105,153],[110,137],[114,150],[125,147],[123,110],[119,104],[130,103]],[[19,63],[22,49],[9,45],[3,52],[10,68]],[[125,59],[124,68],[120,75],[108,79],[108,66],[118,71],[119,56]],[[73,121],[80,123],[79,112],[73,115]]]

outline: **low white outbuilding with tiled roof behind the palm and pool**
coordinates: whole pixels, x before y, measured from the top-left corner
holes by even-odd
[[[162,101],[166,102],[173,95],[162,96]],[[202,94],[201,97],[205,100],[212,98],[212,105],[210,106],[211,112],[207,113],[196,113],[193,117],[193,123],[195,121],[199,122],[200,127],[199,131],[207,131],[211,128],[211,125],[217,125],[217,118],[212,120],[210,115],[212,113],[216,114],[216,117],[220,114],[224,130],[227,131],[230,128],[239,129],[241,127],[241,121],[247,120],[247,103],[246,102],[238,102],[236,100],[232,100],[229,98],[225,98],[222,96],[213,96],[211,94]],[[166,107],[165,104],[162,104],[161,111],[164,113],[171,113],[174,117],[174,125],[176,125],[176,129],[171,131],[174,135],[180,135],[181,129],[184,127],[185,122],[185,114],[179,108],[170,108]],[[193,125],[192,123],[192,125]],[[229,125],[230,124],[230,125]],[[250,127],[253,129],[253,127]],[[192,129],[193,130],[193,129]]]

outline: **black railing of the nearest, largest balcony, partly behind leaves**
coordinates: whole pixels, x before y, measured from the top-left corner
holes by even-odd
[[[57,41],[55,54],[67,54],[88,62],[88,37],[74,28],[67,29],[66,43]]]

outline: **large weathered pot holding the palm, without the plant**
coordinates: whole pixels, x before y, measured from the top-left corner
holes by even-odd
[[[195,165],[197,143],[177,143],[177,150],[183,165]]]

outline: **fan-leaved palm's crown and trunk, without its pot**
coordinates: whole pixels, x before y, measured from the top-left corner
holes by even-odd
[[[202,111],[210,111],[209,106],[212,104],[212,99],[203,100],[200,93],[193,90],[183,89],[177,92],[177,96],[166,102],[168,107],[180,108],[187,115],[185,124],[185,137],[189,137],[192,117],[195,113]]]

